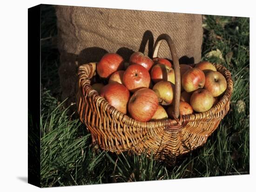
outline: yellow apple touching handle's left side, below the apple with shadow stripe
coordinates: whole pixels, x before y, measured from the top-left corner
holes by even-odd
[[[168,81],[160,81],[158,83],[155,83],[153,91],[155,91],[158,97],[159,104],[169,105],[172,103],[174,97],[172,83]]]

